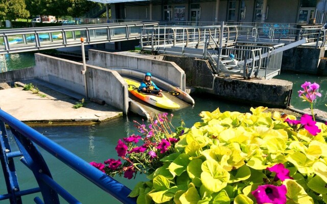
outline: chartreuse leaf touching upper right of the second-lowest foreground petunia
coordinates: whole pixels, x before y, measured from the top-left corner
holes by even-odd
[[[287,161],[291,162],[300,173],[309,174],[313,173],[312,165],[314,161],[307,158],[306,155],[301,152],[294,152],[286,156]]]

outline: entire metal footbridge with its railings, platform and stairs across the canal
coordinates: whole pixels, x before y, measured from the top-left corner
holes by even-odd
[[[0,32],[0,54],[79,46],[81,38],[86,45],[139,39],[139,48],[153,54],[208,60],[215,75],[271,79],[281,71],[284,50],[299,45],[324,47],[327,39],[323,28],[288,28],[278,36],[277,29],[269,34],[260,30],[224,22],[198,27],[158,21],[11,29]]]

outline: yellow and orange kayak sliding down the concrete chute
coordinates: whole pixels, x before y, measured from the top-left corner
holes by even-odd
[[[125,79],[128,84],[128,91],[137,98],[145,101],[148,104],[162,108],[162,109],[179,109],[179,105],[167,98],[164,94],[151,94],[138,92],[137,88],[140,83]]]

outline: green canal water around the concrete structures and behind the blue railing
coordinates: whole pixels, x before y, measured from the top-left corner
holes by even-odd
[[[32,58],[27,57],[27,58]],[[0,60],[1,62],[1,60]],[[33,62],[26,64],[23,61],[24,67],[34,66]],[[11,66],[11,62],[7,63]],[[291,105],[298,109],[308,108],[308,104],[301,101],[297,96],[297,90],[300,90],[300,85],[305,81],[316,82],[320,85],[319,92],[322,97],[316,100],[314,108],[326,110],[324,106],[327,103],[327,77],[318,77],[307,74],[282,73],[276,77],[293,82],[293,95]],[[250,93],[249,93],[250,94]],[[183,110],[173,111],[169,113],[174,114],[174,123],[177,124],[181,119],[184,120],[186,126],[191,127],[195,122],[200,121],[199,113],[201,111],[214,111],[219,108],[220,111],[240,111],[249,112],[250,107],[238,103],[230,103],[217,98],[208,98],[206,96],[192,95],[195,100],[195,105],[185,108]],[[35,129],[50,138],[54,142],[68,149],[76,154],[78,157],[87,162],[103,162],[108,158],[115,158],[115,146],[117,141],[123,137],[127,137],[136,133],[133,126],[133,120],[142,122],[142,118],[129,115],[114,120],[102,122],[91,126],[64,126],[64,127],[35,127]],[[12,139],[12,138],[11,138]],[[72,193],[82,203],[120,203],[112,198],[107,193],[104,193],[100,188],[92,185],[81,175],[57,161],[54,157],[47,154],[40,148],[45,161],[48,163],[54,179],[62,185],[68,192]],[[15,160],[17,166],[17,175],[19,179],[19,186],[21,190],[37,187],[34,181],[34,176],[22,165],[18,160]],[[129,188],[133,188],[138,181],[145,181],[145,175],[137,175],[135,180],[127,180],[116,177]],[[4,178],[0,173],[0,193],[6,192]],[[34,203],[33,196],[24,196],[24,203]],[[38,196],[40,196],[38,194]],[[2,203],[9,203],[9,201],[0,201]],[[66,203],[66,202],[62,202]]]

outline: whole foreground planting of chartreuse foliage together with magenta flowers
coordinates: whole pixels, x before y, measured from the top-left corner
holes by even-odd
[[[128,179],[146,173],[137,203],[326,203],[327,127],[267,108],[200,113],[191,128],[168,114],[117,144],[119,159],[91,164]]]

